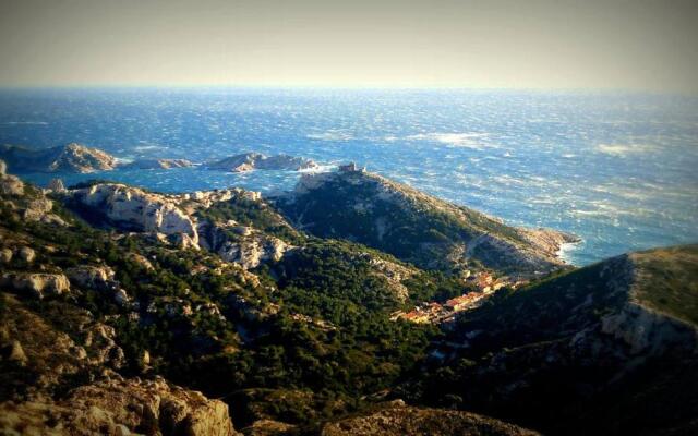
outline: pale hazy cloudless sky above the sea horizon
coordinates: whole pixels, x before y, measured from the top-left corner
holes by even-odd
[[[696,93],[698,0],[0,0],[0,86]]]

